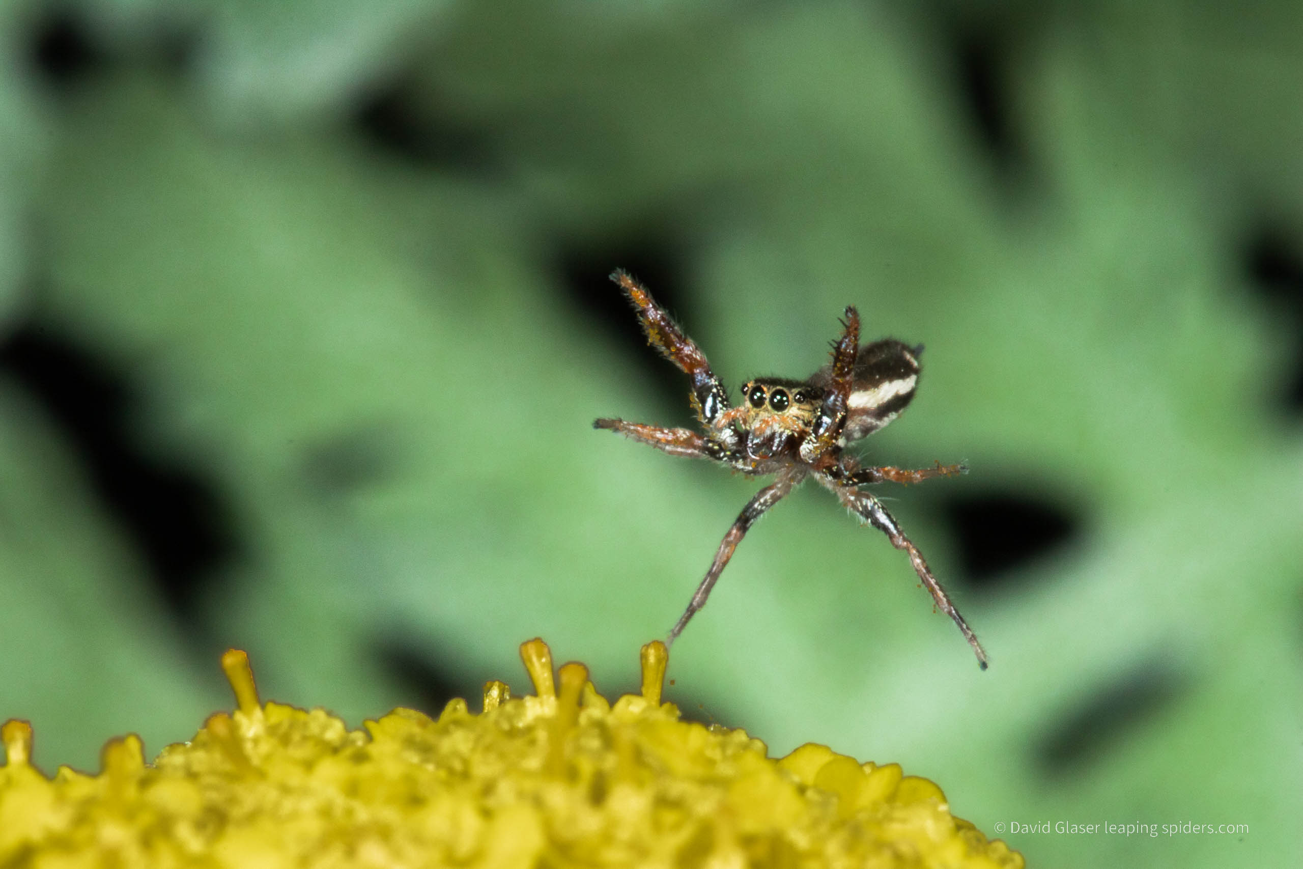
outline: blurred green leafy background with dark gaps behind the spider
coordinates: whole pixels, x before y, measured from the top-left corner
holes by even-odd
[[[936,779],[1033,865],[1303,851],[1303,7],[16,1],[0,35],[0,719],[36,761],[263,694],[606,693],[756,481],[730,387],[924,341],[881,489],[982,637],[805,487],[675,645],[774,754]],[[1063,835],[999,825],[1247,825]]]

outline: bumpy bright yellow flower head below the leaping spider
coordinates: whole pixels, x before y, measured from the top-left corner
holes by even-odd
[[[349,731],[324,710],[259,704],[249,661],[223,667],[238,709],[146,765],[31,766],[31,728],[0,730],[0,866],[1007,866],[1023,859],[950,814],[932,782],[808,744],[774,761],[741,730],[642,692],[609,704],[588,670],[521,646],[536,696],[485,687],[438,720],[396,709]]]

